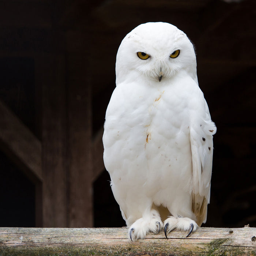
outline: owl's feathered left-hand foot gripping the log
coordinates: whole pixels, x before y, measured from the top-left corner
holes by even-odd
[[[129,238],[131,241],[135,241],[139,238],[145,238],[148,232],[151,231],[157,234],[162,227],[163,223],[160,217],[159,219],[152,218],[149,222],[140,218],[131,225],[129,229]]]

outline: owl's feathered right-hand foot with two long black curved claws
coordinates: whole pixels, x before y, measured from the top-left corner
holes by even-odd
[[[165,237],[168,239],[167,234],[172,231],[173,229],[178,229],[178,230],[184,230],[184,231],[189,231],[188,237],[192,232],[196,231],[198,225],[196,224],[195,221],[189,218],[175,218],[173,216],[169,217],[168,219],[165,220],[164,222],[164,231],[165,231]]]

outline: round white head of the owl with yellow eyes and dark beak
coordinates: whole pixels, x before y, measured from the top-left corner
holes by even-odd
[[[186,72],[197,82],[196,56],[187,35],[164,22],[148,22],[128,33],[116,57],[116,84],[169,82]],[[183,74],[184,75],[184,74]]]

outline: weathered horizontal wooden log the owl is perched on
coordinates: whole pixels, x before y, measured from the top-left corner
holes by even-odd
[[[131,242],[127,228],[0,228],[0,255],[256,255],[256,228],[173,230]]]

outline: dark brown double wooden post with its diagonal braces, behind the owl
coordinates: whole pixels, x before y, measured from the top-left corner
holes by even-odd
[[[67,67],[64,53],[34,54],[35,83],[42,90],[42,142],[0,102],[1,150],[35,183],[37,226],[91,227],[91,186],[104,166],[102,130],[91,140],[91,93],[83,57],[71,56],[73,67]]]

